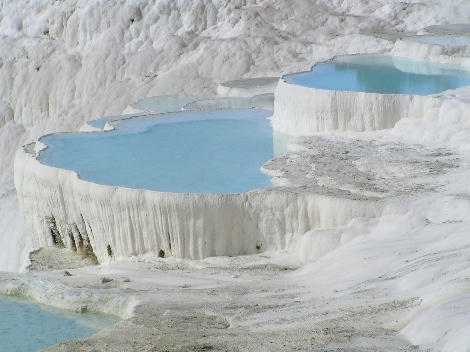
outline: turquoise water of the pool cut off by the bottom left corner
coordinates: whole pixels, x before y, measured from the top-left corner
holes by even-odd
[[[64,341],[91,336],[119,321],[117,317],[106,314],[49,309],[55,314],[41,309],[38,304],[31,304],[30,300],[0,296],[0,351],[35,352]]]

